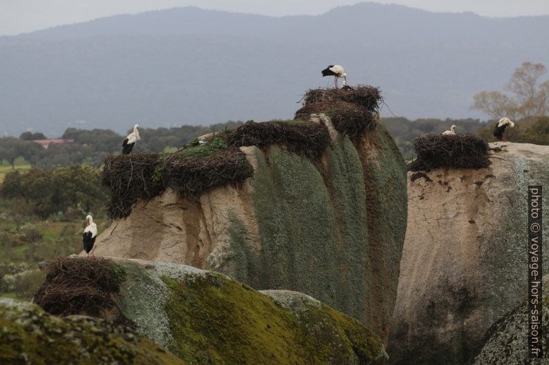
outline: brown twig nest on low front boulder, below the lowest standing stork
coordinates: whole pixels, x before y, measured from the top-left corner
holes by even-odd
[[[102,317],[116,306],[113,297],[125,276],[111,260],[96,257],[59,257],[46,270],[33,300],[53,315]]]

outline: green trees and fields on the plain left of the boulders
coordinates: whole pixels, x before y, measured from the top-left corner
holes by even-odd
[[[142,128],[140,151],[175,150],[206,133],[241,122],[180,128]],[[80,253],[84,217],[105,226],[106,195],[99,180],[105,155],[120,153],[125,136],[112,130],[67,129],[73,144],[32,142],[41,132],[0,139],[0,295],[30,299],[44,281],[39,263]],[[32,165],[32,168],[31,168]]]

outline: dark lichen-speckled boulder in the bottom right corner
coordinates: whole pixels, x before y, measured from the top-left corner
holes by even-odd
[[[549,275],[543,277],[543,286],[549,286]],[[549,356],[549,295],[543,291],[543,359],[531,359],[530,365],[547,365]],[[472,365],[523,365],[528,358],[528,305],[523,304],[507,313],[487,333],[485,344]]]

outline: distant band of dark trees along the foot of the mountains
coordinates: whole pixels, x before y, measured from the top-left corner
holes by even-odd
[[[534,118],[532,120],[519,119],[517,126],[510,129],[508,137],[510,141],[549,144],[549,132],[547,132],[548,117]],[[478,133],[479,136],[494,141],[492,132],[495,120],[488,122],[479,119],[407,119],[404,117],[382,118],[383,124],[395,139],[404,158],[413,154],[411,141],[427,133],[441,133],[455,124],[458,133]],[[223,124],[212,126],[181,126],[178,128],[141,128],[141,141],[138,142],[134,152],[174,152],[184,146],[191,139],[210,132],[221,131],[241,126],[241,121],[227,121]],[[14,169],[28,170],[30,166],[51,170],[54,168],[68,167],[73,164],[84,164],[99,168],[106,155],[116,155],[122,148],[122,140],[125,135],[118,135],[112,130],[94,129],[83,130],[68,128],[60,138],[74,139],[73,144],[50,144],[45,150],[39,144],[28,140],[29,134],[25,132],[21,137],[3,137],[0,139],[0,182],[3,175]],[[44,137],[40,132],[31,134],[32,137]],[[42,138],[40,138],[42,139]]]

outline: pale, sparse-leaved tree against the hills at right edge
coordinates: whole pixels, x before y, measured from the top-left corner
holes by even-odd
[[[512,95],[481,91],[473,96],[471,108],[492,119],[510,117],[533,121],[549,114],[549,80],[541,81],[547,69],[541,63],[524,62],[507,83]]]

